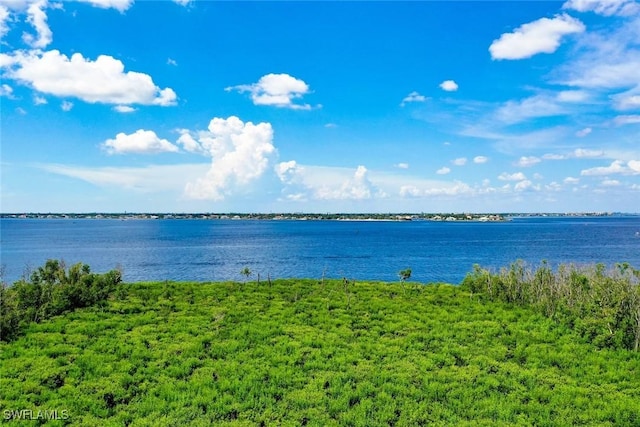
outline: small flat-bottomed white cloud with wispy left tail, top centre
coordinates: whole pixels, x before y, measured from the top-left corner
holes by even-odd
[[[230,86],[227,92],[236,90],[249,92],[254,105],[272,105],[294,110],[310,110],[309,104],[296,104],[296,99],[309,93],[309,86],[302,80],[288,74],[267,74],[260,77],[258,83]]]

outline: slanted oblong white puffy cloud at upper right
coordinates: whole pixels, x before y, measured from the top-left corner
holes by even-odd
[[[562,37],[583,31],[584,24],[567,14],[541,18],[502,34],[493,41],[489,52],[493,59],[524,59],[538,53],[553,53]]]

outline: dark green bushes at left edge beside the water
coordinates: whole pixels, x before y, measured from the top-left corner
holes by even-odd
[[[48,260],[13,286],[0,287],[0,340],[10,341],[31,322],[41,322],[76,308],[99,305],[122,280],[118,270],[92,273],[78,263],[68,269],[64,261]]]

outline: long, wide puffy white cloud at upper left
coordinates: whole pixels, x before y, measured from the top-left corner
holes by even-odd
[[[100,55],[95,61],[75,53],[68,58],[57,50],[6,55],[5,77],[60,97],[76,97],[90,103],[175,105],[171,88],[160,89],[147,74],[124,72],[119,60]]]

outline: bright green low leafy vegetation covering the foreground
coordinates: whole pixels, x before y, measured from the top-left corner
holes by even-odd
[[[9,425],[640,425],[640,353],[451,285],[124,285],[0,361]]]

